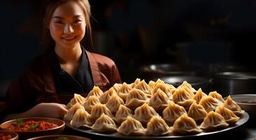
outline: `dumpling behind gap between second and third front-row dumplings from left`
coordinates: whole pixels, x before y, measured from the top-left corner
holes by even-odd
[[[117,122],[122,123],[128,116],[133,116],[133,111],[121,104],[119,110],[116,112]]]

